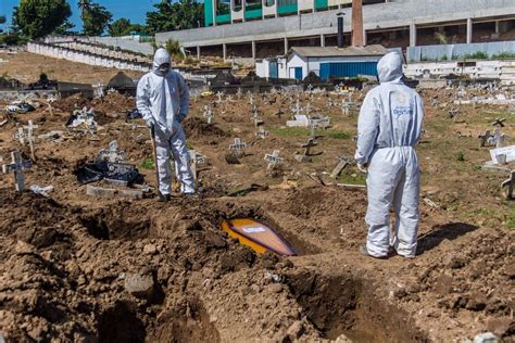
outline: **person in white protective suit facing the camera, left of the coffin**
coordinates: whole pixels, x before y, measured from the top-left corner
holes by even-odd
[[[180,125],[188,115],[189,91],[183,76],[171,69],[171,58],[165,49],[155,52],[152,72],[139,80],[136,102],[145,122],[155,132],[160,199],[168,201],[171,198],[171,155],[181,192],[192,196],[194,180],[185,131]]]

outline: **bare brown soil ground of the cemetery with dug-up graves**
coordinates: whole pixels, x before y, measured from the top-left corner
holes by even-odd
[[[27,77],[16,75],[16,66],[8,68],[12,77]],[[366,237],[366,193],[331,185],[324,174],[337,156],[353,155],[356,130],[356,113],[344,116],[328,107],[328,96],[312,100],[313,112],[330,115],[332,123],[319,132],[313,152],[322,154],[312,163],[293,158],[310,134],[285,127],[291,96],[254,96],[271,132],[265,140],[254,136],[247,97],[234,97],[226,107],[215,103],[216,97],[192,99],[185,122],[188,144],[210,158],[211,168],[200,173],[201,199],[166,204],[93,199],[77,183],[76,165],[114,139],[154,182],[151,167],[145,168],[152,158],[148,130],[126,125],[121,115],[134,100],[96,101],[91,105],[102,124],[97,137],[66,134],[71,137],[62,142],[36,144],[26,181],[52,185],[49,199],[16,193],[11,175],[0,178],[3,336],[11,342],[342,342],[344,334],[354,342],[463,342],[492,331],[513,342],[515,204],[500,189],[506,175],[479,168],[489,153],[479,148],[477,135],[493,118],[506,117],[504,132],[515,137],[515,122],[506,107],[489,105],[462,106],[464,122],[454,123],[451,105],[443,104],[454,94],[423,93],[423,195],[438,207],[420,205],[417,257],[387,261],[357,252]],[[359,103],[363,96],[354,93],[353,100]],[[335,103],[343,99],[330,97]],[[436,98],[441,105],[432,105]],[[302,104],[307,99],[301,94]],[[60,101],[53,114],[45,105],[16,115],[0,128],[3,161],[13,150],[28,156],[28,149],[12,139],[17,125],[33,119],[38,135],[66,132],[73,102],[83,106],[81,101]],[[201,119],[208,103],[214,107],[213,125]],[[228,165],[225,155],[236,137],[249,147],[241,164]],[[269,176],[264,155],[274,149],[286,164]],[[364,176],[351,166],[339,181],[363,185]],[[268,190],[226,195],[251,183]],[[241,216],[277,229],[299,256],[255,255],[219,229],[223,219]],[[133,275],[150,276],[153,292],[131,295],[125,282]]]

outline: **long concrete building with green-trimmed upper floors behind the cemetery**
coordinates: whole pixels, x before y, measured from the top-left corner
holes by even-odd
[[[205,24],[211,26],[161,33],[155,37],[158,43],[178,40],[199,58],[203,54],[226,59],[276,56],[286,54],[290,47],[336,46],[337,13],[343,13],[346,46],[350,45],[353,25],[350,0],[225,1],[228,11],[225,14],[218,11],[223,8],[221,0],[206,2],[206,11],[212,5],[212,22]],[[514,0],[382,0],[380,3],[365,0],[362,12],[363,45],[406,48],[443,41],[515,39]]]

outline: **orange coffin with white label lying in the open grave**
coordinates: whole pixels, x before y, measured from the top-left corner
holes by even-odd
[[[254,219],[224,220],[222,229],[255,252],[271,251],[279,256],[294,256],[296,251],[274,229]]]

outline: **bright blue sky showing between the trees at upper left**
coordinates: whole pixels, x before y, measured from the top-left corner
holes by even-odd
[[[72,9],[72,16],[70,21],[75,24],[73,30],[80,30],[81,22],[77,8],[78,0],[68,0]],[[147,12],[153,11],[153,4],[161,2],[161,0],[93,0],[105,7],[113,13],[113,20],[126,17],[134,24],[145,24]],[[0,28],[5,29],[11,26],[11,15],[13,8],[20,3],[20,0],[0,0],[0,15],[5,15],[8,22],[5,25],[0,25]]]

